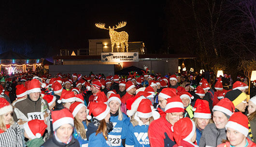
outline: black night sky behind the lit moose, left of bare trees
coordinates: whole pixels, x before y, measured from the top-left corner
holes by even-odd
[[[108,27],[127,21],[117,31],[128,32],[129,41],[143,41],[149,53],[161,46],[164,0],[53,1],[1,1],[0,40],[32,44],[35,52],[43,45],[53,49],[47,55],[54,55],[59,49],[88,48],[88,39],[109,38],[108,30],[95,23]]]

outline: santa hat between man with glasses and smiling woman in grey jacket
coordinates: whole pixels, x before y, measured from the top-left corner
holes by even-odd
[[[209,108],[209,103],[206,100],[197,99],[194,110],[194,118],[211,119],[212,114]]]

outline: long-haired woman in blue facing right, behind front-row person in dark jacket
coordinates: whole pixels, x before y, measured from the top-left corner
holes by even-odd
[[[85,104],[81,102],[74,102],[70,106],[70,111],[74,117],[74,138],[79,141],[82,147],[88,146],[86,131],[89,122],[86,119],[87,113]]]

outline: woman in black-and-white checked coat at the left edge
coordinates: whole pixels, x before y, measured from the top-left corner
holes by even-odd
[[[5,98],[0,98],[0,146],[23,147],[23,134],[12,117],[13,107]]]

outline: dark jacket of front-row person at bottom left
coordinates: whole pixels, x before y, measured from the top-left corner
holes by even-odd
[[[73,136],[69,144],[60,143],[56,140],[55,135],[49,138],[41,147],[80,147],[78,140]]]

